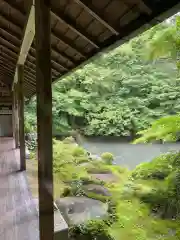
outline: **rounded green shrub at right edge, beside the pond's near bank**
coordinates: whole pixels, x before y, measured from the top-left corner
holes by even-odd
[[[135,185],[143,179],[141,183],[149,187],[148,191],[140,190],[136,196],[163,218],[180,217],[179,164],[180,153],[168,153],[139,165],[132,172],[132,177],[136,179]],[[134,196],[134,191],[129,196],[132,195]]]

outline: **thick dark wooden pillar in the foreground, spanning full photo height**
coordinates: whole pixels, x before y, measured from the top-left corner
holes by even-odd
[[[35,0],[40,240],[53,240],[50,0]]]

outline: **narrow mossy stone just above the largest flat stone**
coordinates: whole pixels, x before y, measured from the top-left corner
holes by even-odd
[[[86,193],[94,193],[94,194],[99,194],[102,196],[111,196],[111,193],[109,192],[109,190],[101,185],[97,185],[97,184],[87,184],[85,186],[83,186],[83,190]]]

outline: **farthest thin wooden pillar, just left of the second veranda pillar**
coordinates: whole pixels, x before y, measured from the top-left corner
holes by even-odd
[[[18,117],[18,96],[17,86],[14,87],[13,91],[13,136],[15,140],[15,148],[19,147],[19,117]]]

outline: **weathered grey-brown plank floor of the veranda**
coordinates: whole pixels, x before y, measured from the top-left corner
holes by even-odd
[[[0,138],[0,240],[36,240],[38,216],[19,151],[12,138]]]

